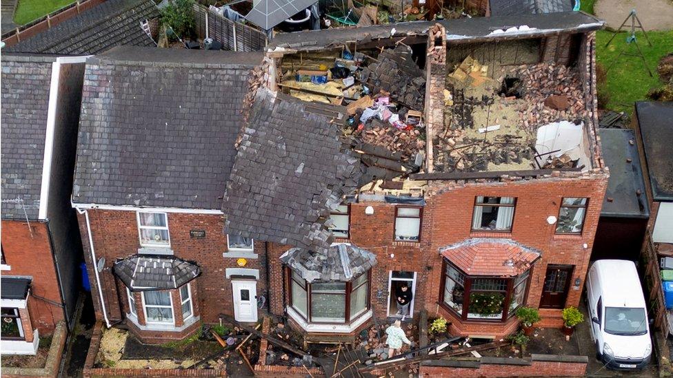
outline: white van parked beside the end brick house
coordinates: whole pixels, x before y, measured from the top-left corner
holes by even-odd
[[[598,260],[589,268],[586,288],[596,357],[613,369],[647,366],[652,340],[636,265],[627,260]]]

